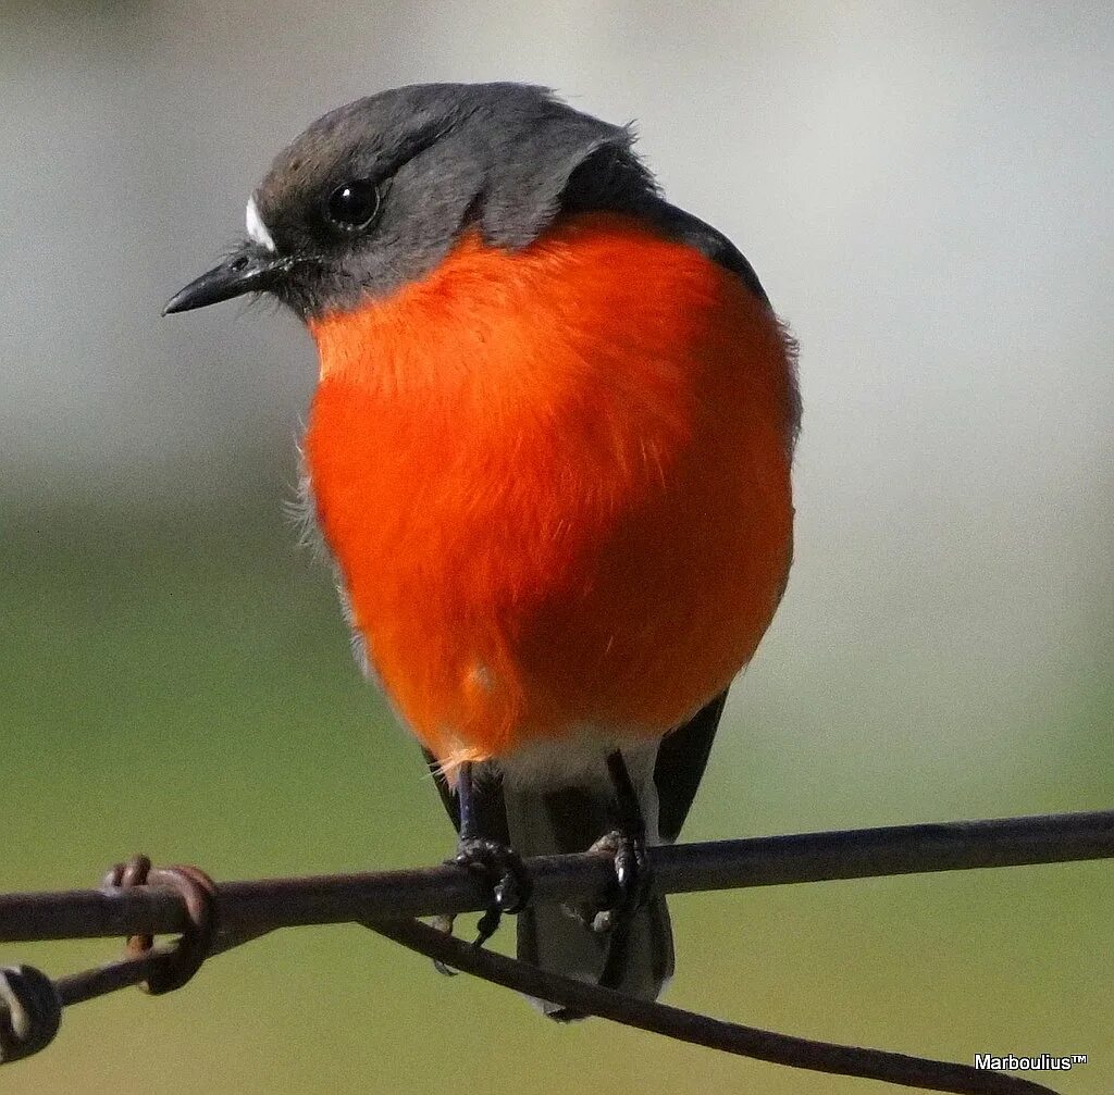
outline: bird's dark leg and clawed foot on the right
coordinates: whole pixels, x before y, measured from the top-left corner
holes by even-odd
[[[597,913],[593,927],[609,932],[607,959],[599,978],[605,988],[616,988],[626,966],[626,948],[635,915],[646,903],[653,873],[646,853],[646,822],[626,761],[616,750],[607,755],[607,772],[615,791],[615,828],[596,841],[594,851],[607,851],[615,862],[615,900]]]

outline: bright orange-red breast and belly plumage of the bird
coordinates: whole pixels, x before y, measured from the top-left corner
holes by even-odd
[[[742,668],[792,544],[789,340],[585,215],[312,324],[305,453],[371,662],[442,761],[662,734]]]

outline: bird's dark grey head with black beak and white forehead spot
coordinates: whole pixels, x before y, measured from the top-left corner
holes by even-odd
[[[248,202],[248,238],[166,311],[265,292],[306,319],[420,280],[469,229],[516,251],[561,214],[664,206],[632,141],[521,84],[359,99],[278,154]]]

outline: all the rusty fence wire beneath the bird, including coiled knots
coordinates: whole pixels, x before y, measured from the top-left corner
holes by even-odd
[[[743,889],[932,871],[1114,858],[1114,811],[897,825],[654,848],[663,893]],[[606,856],[526,861],[538,903],[603,902]],[[165,993],[214,955],[278,928],[362,923],[437,961],[577,1011],[727,1053],[938,1092],[1055,1095],[967,1065],[813,1042],[713,1019],[570,980],[463,944],[420,923],[480,911],[482,882],[453,864],[418,870],[213,882],[194,867],[154,870],[145,857],[114,868],[99,889],[0,894],[0,942],[129,936],[128,955],[51,980],[29,966],[0,970],[0,1063],[37,1053],[66,1005],[129,985]],[[179,933],[174,944],[154,936]]]

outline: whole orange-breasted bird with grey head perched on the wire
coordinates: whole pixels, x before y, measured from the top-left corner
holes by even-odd
[[[785,588],[800,402],[750,264],[632,144],[516,84],[360,99],[280,153],[243,246],[166,311],[270,293],[306,323],[307,503],[489,887],[480,938],[518,912],[520,958],[655,999],[646,847]],[[593,847],[608,908],[529,905],[521,856]]]

